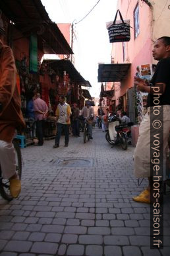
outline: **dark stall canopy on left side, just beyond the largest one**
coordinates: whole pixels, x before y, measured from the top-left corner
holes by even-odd
[[[51,69],[55,71],[66,71],[72,81],[79,83],[84,87],[92,87],[90,82],[80,75],[70,60],[43,60],[43,62],[49,64]]]

